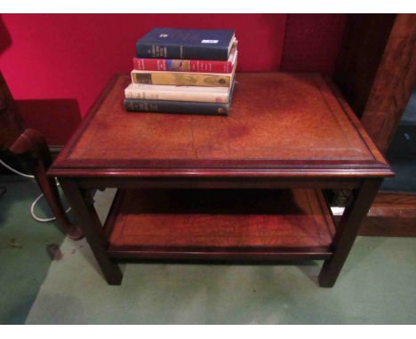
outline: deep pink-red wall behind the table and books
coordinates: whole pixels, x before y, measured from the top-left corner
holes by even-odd
[[[235,28],[239,71],[331,73],[344,26],[344,15],[7,14],[0,69],[28,125],[60,145],[151,28]]]

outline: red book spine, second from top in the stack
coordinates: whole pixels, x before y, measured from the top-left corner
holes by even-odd
[[[172,71],[195,73],[231,73],[230,61],[176,60],[133,58],[133,67],[139,71]]]

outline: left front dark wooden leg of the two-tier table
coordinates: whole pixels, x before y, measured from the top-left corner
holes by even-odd
[[[81,187],[74,180],[61,178],[60,185],[66,193],[79,224],[84,228],[85,237],[108,284],[120,285],[123,280],[123,273],[118,264],[108,256],[108,239],[103,233],[92,199],[84,196]]]

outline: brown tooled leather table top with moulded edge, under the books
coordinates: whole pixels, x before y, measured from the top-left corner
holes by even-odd
[[[242,73],[228,116],[126,112],[117,75],[54,169],[390,171],[348,105],[318,74]]]

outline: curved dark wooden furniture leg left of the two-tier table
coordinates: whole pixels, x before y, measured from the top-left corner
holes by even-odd
[[[51,166],[52,158],[42,133],[37,130],[25,130],[10,147],[10,151],[14,154],[23,155],[23,159],[33,171],[37,184],[44,193],[44,197],[51,207],[62,232],[73,240],[83,238],[84,232],[81,228],[71,225],[69,222],[60,201],[60,194],[54,178],[46,175],[46,171]]]

